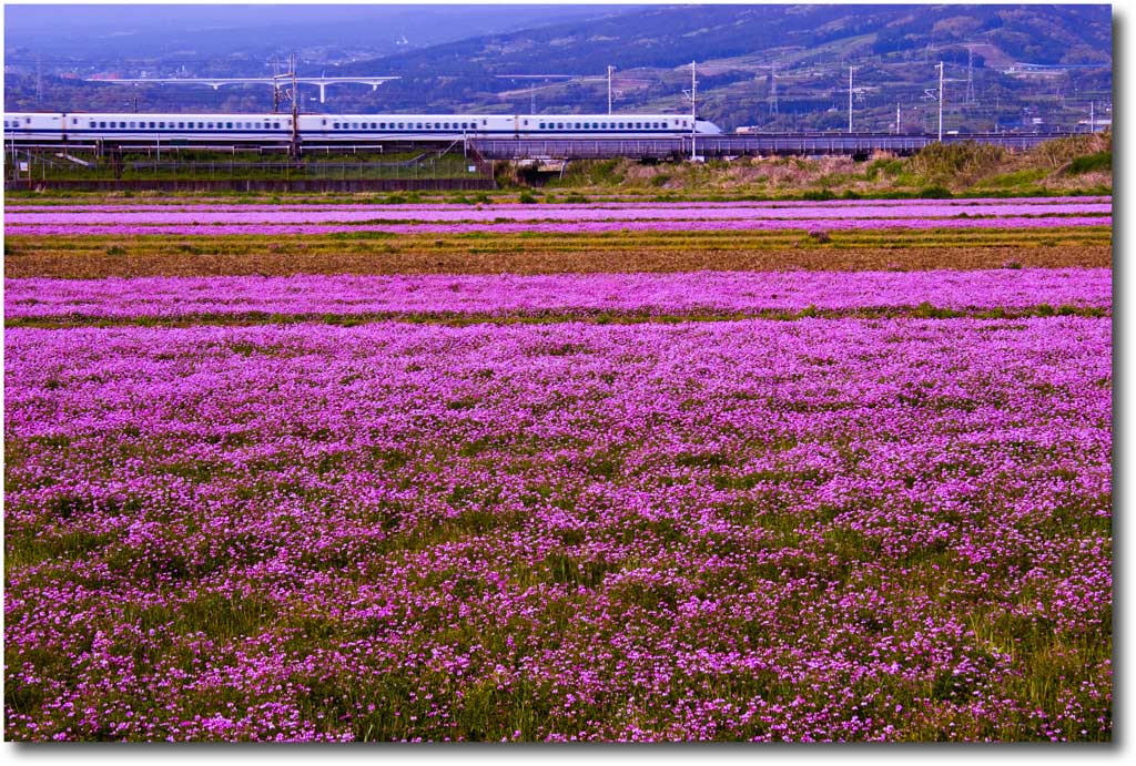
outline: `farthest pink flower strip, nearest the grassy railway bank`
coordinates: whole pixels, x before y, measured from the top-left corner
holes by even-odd
[[[674,232],[1110,226],[1110,197],[857,201],[854,203],[607,203],[336,205],[267,208],[151,205],[116,210],[16,207],[7,234],[229,235],[346,232]]]

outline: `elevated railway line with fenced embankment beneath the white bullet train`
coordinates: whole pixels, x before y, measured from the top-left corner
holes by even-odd
[[[1069,134],[949,135],[943,143],[977,141],[1012,151]],[[130,142],[18,142],[5,146],[5,188],[235,190],[235,191],[403,191],[418,188],[495,188],[494,162],[559,166],[575,160],[727,159],[734,157],[851,155],[875,152],[908,155],[937,142],[935,135],[765,134],[691,137],[486,138],[465,141],[375,141],[303,143],[300,151],[281,142],[208,145]],[[182,152],[190,152],[183,154]],[[377,161],[376,155],[406,155]],[[201,160],[200,154],[214,154]],[[224,154],[229,155],[226,161]],[[360,154],[361,158],[348,158]],[[457,158],[453,159],[454,154]],[[370,159],[367,159],[367,157]],[[144,162],[133,158],[144,157]],[[272,160],[269,158],[279,158]],[[341,158],[341,159],[336,159]],[[86,159],[83,159],[86,158]],[[450,159],[446,159],[450,158]],[[435,165],[437,163],[437,165]]]

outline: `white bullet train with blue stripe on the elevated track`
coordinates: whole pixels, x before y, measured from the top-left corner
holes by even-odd
[[[301,142],[474,138],[675,138],[719,134],[690,115],[301,115]],[[139,115],[16,112],[3,116],[6,143],[278,143],[292,140],[291,115]]]

